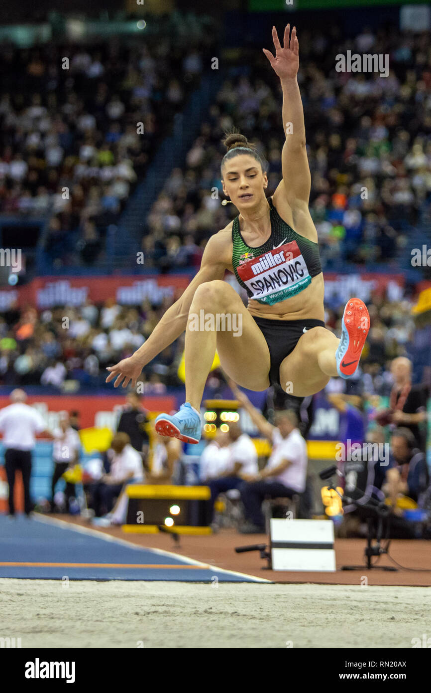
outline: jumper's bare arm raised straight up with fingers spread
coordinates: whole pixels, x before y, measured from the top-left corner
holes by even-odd
[[[283,93],[282,119],[286,137],[282,149],[283,180],[274,193],[274,201],[279,195],[284,195],[294,213],[298,207],[306,207],[308,211],[311,175],[305,146],[304,109],[297,83],[300,63],[295,26],[290,40],[289,34],[290,24],[284,30],[283,46],[281,46],[274,26],[275,58],[270,51],[266,49],[263,51],[271,67],[279,76]]]

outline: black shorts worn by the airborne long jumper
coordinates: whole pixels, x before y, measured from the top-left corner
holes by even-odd
[[[271,385],[282,384],[279,380],[279,367],[282,360],[295,349],[300,337],[304,334],[304,328],[324,327],[322,320],[271,320],[267,317],[255,317],[252,315],[260,331],[266,339],[270,355],[269,380]]]

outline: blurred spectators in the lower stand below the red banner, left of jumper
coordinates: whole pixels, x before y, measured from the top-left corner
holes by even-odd
[[[91,301],[80,308],[64,306],[37,312],[10,309],[0,317],[0,378],[2,385],[45,385],[63,390],[102,386],[105,367],[136,351],[152,333],[171,301],[160,305],[103,306]],[[163,394],[177,385],[179,344],[161,351],[141,376],[142,394]],[[182,351],[182,350],[181,350]],[[111,385],[107,385],[112,389]]]

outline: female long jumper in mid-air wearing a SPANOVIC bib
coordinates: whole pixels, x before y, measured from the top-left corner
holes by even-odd
[[[289,38],[290,37],[290,38]],[[324,326],[324,282],[318,234],[309,213],[311,175],[306,155],[304,112],[297,84],[298,40],[290,25],[281,46],[273,27],[275,57],[264,49],[282,85],[286,139],[282,174],[272,198],[264,162],[239,133],[224,140],[223,192],[239,215],[208,240],[201,268],[152,335],[129,358],[113,367],[107,383],[135,387],[143,367],[185,334],[185,403],[176,414],[160,414],[161,435],[197,443],[201,437],[203,389],[217,349],[221,367],[238,385],[264,390],[277,383],[304,397],[319,392],[329,378],[352,376],[369,331],[363,301],[347,301],[340,340]],[[248,294],[248,306],[226,281],[235,274]],[[242,333],[188,328],[200,316],[241,315]],[[225,323],[226,324],[226,323]]]

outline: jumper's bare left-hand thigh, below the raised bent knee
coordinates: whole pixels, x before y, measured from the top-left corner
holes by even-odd
[[[230,326],[230,320],[232,329],[223,329],[221,319],[217,331],[217,351],[223,371],[241,387],[266,389],[270,369],[268,344],[234,289],[226,318],[225,326]]]

